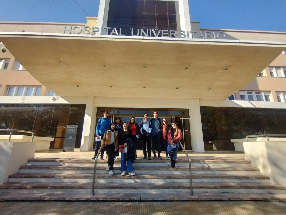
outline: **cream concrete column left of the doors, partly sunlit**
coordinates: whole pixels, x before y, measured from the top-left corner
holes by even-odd
[[[83,121],[83,130],[81,136],[81,151],[91,151],[93,148],[93,138],[96,125],[97,107],[93,104],[94,96],[86,98],[86,112]]]

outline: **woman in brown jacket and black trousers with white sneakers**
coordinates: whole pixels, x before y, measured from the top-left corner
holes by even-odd
[[[108,155],[106,170],[109,170],[110,175],[114,175],[112,170],[114,165],[115,152],[118,148],[118,134],[115,130],[115,126],[115,123],[112,122],[108,129],[104,132],[100,147],[102,149],[104,146],[106,146],[106,152]]]

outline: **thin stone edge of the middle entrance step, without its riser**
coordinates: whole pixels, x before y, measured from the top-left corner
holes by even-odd
[[[10,175],[9,178],[93,178],[92,173],[76,173],[76,174],[64,174],[64,173],[16,173]],[[109,175],[98,173],[96,178],[117,178],[117,179],[189,179],[190,174],[136,174],[131,175]],[[192,179],[269,179],[268,176],[262,174],[256,175],[235,175],[235,174],[192,174]]]

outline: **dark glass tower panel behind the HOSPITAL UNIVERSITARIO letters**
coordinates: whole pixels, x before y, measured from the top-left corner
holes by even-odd
[[[137,29],[142,28],[145,32],[154,29],[158,34],[159,30],[177,30],[176,2],[175,1],[154,1],[154,0],[110,0],[107,27],[122,29],[121,34],[131,36],[137,34]],[[111,29],[111,30],[112,30]],[[111,33],[109,30],[109,33]],[[152,32],[152,36],[155,36]],[[159,37],[161,33],[159,33]]]

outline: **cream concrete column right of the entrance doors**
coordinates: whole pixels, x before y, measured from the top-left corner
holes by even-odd
[[[200,101],[198,98],[192,99],[190,112],[190,130],[193,152],[205,152],[202,120],[200,116]]]

